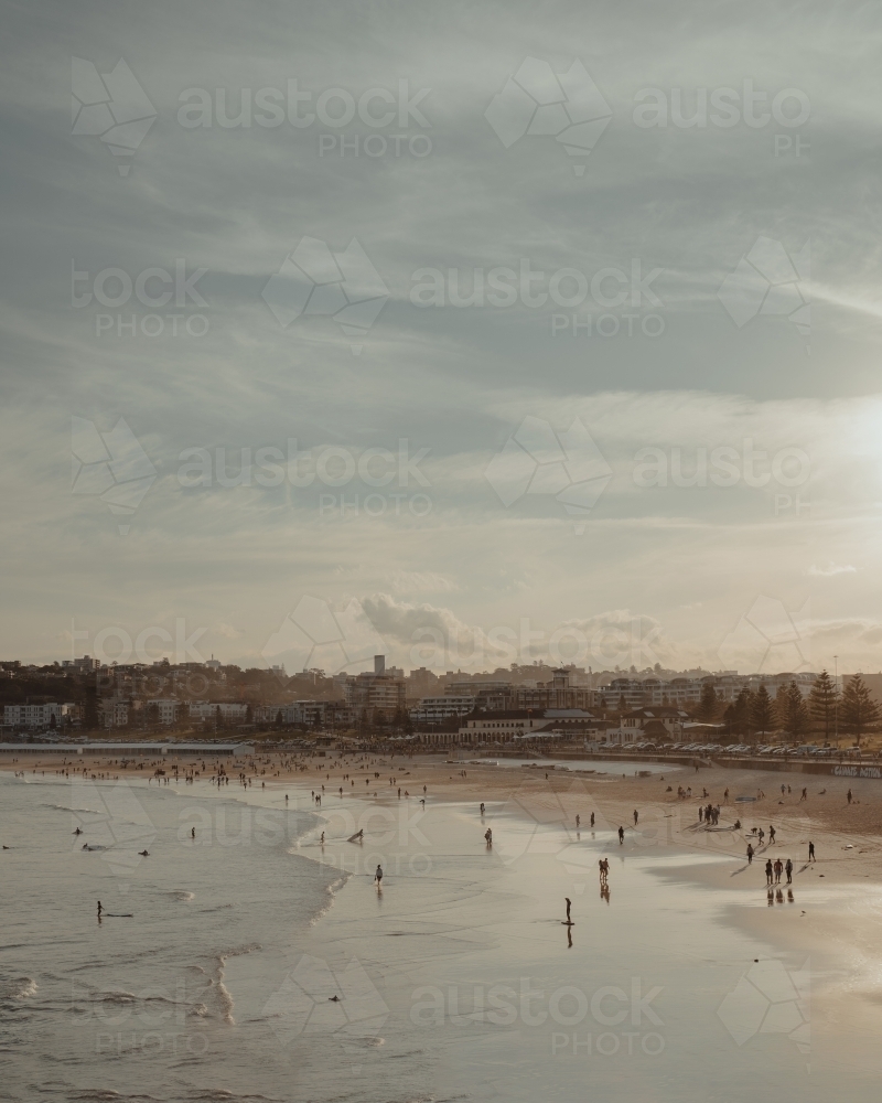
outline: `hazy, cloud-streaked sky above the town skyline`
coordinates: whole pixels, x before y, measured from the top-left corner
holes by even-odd
[[[3,657],[882,668],[874,9],[4,23]]]

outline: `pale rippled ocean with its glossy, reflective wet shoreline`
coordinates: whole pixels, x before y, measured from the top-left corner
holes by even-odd
[[[539,779],[483,818],[309,786],[0,775],[0,1100],[878,1094],[878,1005],[798,938],[848,893],[745,895],[660,813],[576,833]]]

